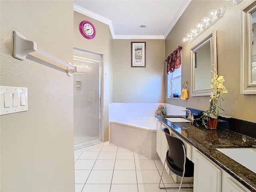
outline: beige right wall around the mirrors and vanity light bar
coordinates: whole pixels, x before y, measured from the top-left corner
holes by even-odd
[[[166,38],[166,57],[178,45],[182,46],[182,82],[188,80],[188,86],[190,86],[190,48],[200,42],[200,38],[206,37],[216,29],[218,74],[226,79],[224,86],[228,90],[228,93],[223,95],[224,101],[221,102],[221,107],[225,110],[222,114],[256,122],[255,95],[240,95],[240,9],[248,2],[244,0],[235,5],[232,1],[226,0],[192,0]],[[220,20],[191,44],[182,42],[182,38],[197,22],[200,22],[203,16],[207,16],[211,9],[218,9],[222,5],[226,6],[226,12]],[[208,110],[209,98],[209,96],[189,96],[188,100],[166,99],[165,102],[198,110]]]

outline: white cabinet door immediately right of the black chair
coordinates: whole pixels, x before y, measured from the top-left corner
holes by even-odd
[[[194,162],[194,191],[196,192],[220,192],[221,170],[206,156],[193,148]]]

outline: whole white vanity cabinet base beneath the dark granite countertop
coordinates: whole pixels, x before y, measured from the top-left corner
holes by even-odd
[[[168,143],[162,128],[167,127],[164,123],[157,120],[156,128],[156,151],[164,164]],[[181,139],[186,148],[187,158],[194,163],[194,178],[184,178],[183,183],[193,183],[194,192],[250,192],[239,181],[230,176],[224,169],[220,168],[206,155],[200,152],[197,148],[187,142],[182,136],[169,128],[170,134]],[[241,165],[242,166],[242,165]],[[180,182],[180,176],[172,173],[168,166],[165,166],[168,174],[172,176],[175,183]]]

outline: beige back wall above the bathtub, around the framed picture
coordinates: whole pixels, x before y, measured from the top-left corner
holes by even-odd
[[[146,41],[146,68],[131,67],[131,42]],[[164,101],[164,40],[113,40],[113,102]]]

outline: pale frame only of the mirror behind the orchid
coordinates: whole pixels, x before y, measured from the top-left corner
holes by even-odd
[[[209,34],[204,40],[196,44],[193,48],[190,49],[191,57],[191,91],[190,96],[209,96],[212,92],[211,82],[209,82],[209,88],[196,90],[195,89],[195,52],[200,49],[202,46],[210,42],[210,55],[211,55],[211,70],[214,71],[214,67],[217,69],[217,45],[216,45],[216,30],[214,29],[211,34]],[[214,65],[214,66],[213,66]],[[213,74],[211,74],[213,78]]]

